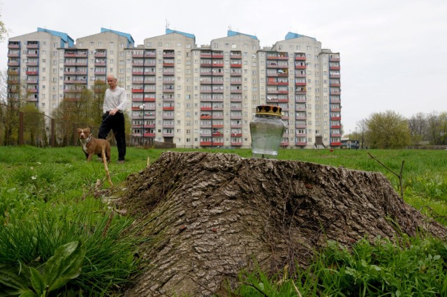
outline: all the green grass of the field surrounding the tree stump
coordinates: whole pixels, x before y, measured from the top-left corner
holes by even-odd
[[[251,157],[248,149],[200,151]],[[108,166],[112,183],[124,182],[129,174],[145,169],[148,158],[154,162],[161,153],[159,149],[128,148],[124,165],[112,159]],[[368,153],[397,173],[404,161],[406,202],[447,224],[446,151],[281,150],[279,159],[382,172],[398,190],[398,179]],[[103,188],[110,186],[103,164],[87,164],[80,147],[0,147],[0,291],[4,289],[2,265],[38,268],[61,245],[80,240],[87,248],[82,273],[58,294],[119,294],[121,284],[137,273],[134,254],[138,238],[126,233],[131,218],[116,215],[93,197],[98,180]],[[446,250],[446,243],[427,238],[406,238],[399,247],[383,241],[375,245],[359,242],[353,252],[332,244],[317,253],[309,269],[297,271],[293,277],[283,280],[284,275],[268,277],[261,271],[242,275],[244,285],[237,294],[441,296],[446,293]]]

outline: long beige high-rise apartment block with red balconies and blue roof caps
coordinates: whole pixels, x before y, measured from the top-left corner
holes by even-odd
[[[193,34],[166,29],[135,46],[129,33],[109,29],[75,44],[66,33],[38,29],[10,38],[8,49],[8,82],[26,82],[35,90],[27,100],[45,114],[116,75],[128,94],[134,144],[249,148],[255,107],[268,104],[283,109],[282,146],[341,145],[339,53],[312,37],[289,32],[261,48],[256,36],[230,30],[198,47]]]

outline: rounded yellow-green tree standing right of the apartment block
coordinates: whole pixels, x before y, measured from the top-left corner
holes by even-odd
[[[371,148],[404,148],[411,143],[408,120],[393,111],[372,114],[367,128],[366,139]]]

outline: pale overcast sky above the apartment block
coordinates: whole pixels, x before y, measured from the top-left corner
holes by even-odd
[[[342,125],[393,110],[447,112],[445,0],[0,0],[9,37],[37,27],[77,38],[101,27],[131,33],[135,45],[170,29],[192,33],[197,45],[228,29],[256,35],[262,46],[292,31],[311,36],[341,56]],[[0,43],[6,70],[7,40]]]

